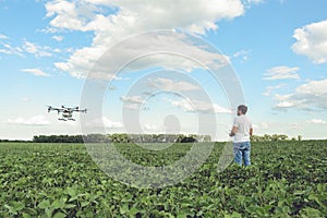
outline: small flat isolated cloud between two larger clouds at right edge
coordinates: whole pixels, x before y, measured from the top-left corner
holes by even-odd
[[[299,74],[295,73],[300,68],[290,68],[286,65],[279,65],[267,70],[264,74],[263,80],[274,81],[274,80],[284,80],[284,78],[300,78]]]

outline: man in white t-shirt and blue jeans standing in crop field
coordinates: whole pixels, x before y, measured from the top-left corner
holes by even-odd
[[[234,119],[233,128],[229,136],[233,136],[234,161],[242,166],[250,166],[251,143],[250,136],[253,134],[253,128],[250,119],[245,116],[247,107],[241,105],[238,107],[238,117]]]

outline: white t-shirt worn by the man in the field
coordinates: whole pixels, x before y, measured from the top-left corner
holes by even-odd
[[[252,122],[246,116],[242,114],[235,117],[233,126],[238,128],[238,132],[233,138],[234,143],[250,142],[250,129],[252,129]]]

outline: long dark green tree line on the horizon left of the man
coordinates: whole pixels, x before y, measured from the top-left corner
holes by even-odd
[[[184,134],[87,134],[35,135],[34,143],[196,143],[211,142],[209,135]]]

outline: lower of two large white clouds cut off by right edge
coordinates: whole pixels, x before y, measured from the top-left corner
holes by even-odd
[[[327,109],[327,78],[310,81],[295,88],[292,94],[276,95],[277,108],[296,107],[304,110]]]

